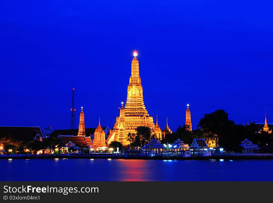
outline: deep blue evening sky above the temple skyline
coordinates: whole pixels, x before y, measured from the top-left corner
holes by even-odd
[[[272,1],[0,3],[0,125],[113,126],[139,52],[144,102],[176,131],[224,109],[235,123],[273,122]]]

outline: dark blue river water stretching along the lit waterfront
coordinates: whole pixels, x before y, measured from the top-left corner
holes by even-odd
[[[0,159],[0,181],[273,181],[273,160]]]

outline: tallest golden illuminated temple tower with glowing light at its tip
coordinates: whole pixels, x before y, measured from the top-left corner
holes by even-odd
[[[110,144],[112,141],[121,142],[123,145],[130,144],[127,141],[128,133],[137,133],[136,128],[138,126],[149,127],[152,133],[156,133],[158,137],[162,137],[159,126],[157,125],[155,128],[153,117],[149,116],[145,108],[137,52],[134,51],[133,55],[126,105],[123,107],[122,103],[119,116],[116,118],[113,129],[110,130],[107,144]]]

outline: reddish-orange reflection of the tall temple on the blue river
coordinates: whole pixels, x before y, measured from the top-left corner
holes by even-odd
[[[149,181],[149,173],[146,169],[147,160],[118,159],[123,174],[120,181]]]

